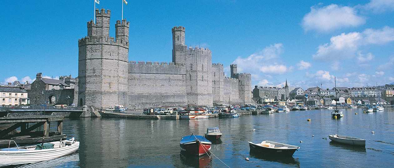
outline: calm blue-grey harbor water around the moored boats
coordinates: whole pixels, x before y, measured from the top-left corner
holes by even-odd
[[[342,109],[290,111],[201,120],[135,120],[69,118],[63,132],[81,146],[77,153],[37,163],[40,167],[392,167],[394,165],[394,110],[363,113]],[[357,113],[357,115],[355,114]],[[311,119],[311,121],[307,121]],[[221,143],[209,156],[180,154],[182,136],[204,135],[219,126]],[[255,131],[253,131],[255,129]],[[372,131],[375,134],[372,134]],[[329,134],[366,139],[365,148],[330,143]],[[314,136],[312,136],[314,135]],[[249,153],[248,141],[270,140],[300,146],[291,158],[266,158]],[[302,143],[300,143],[302,141]],[[245,161],[248,157],[250,160]],[[30,165],[31,166],[31,165]]]

